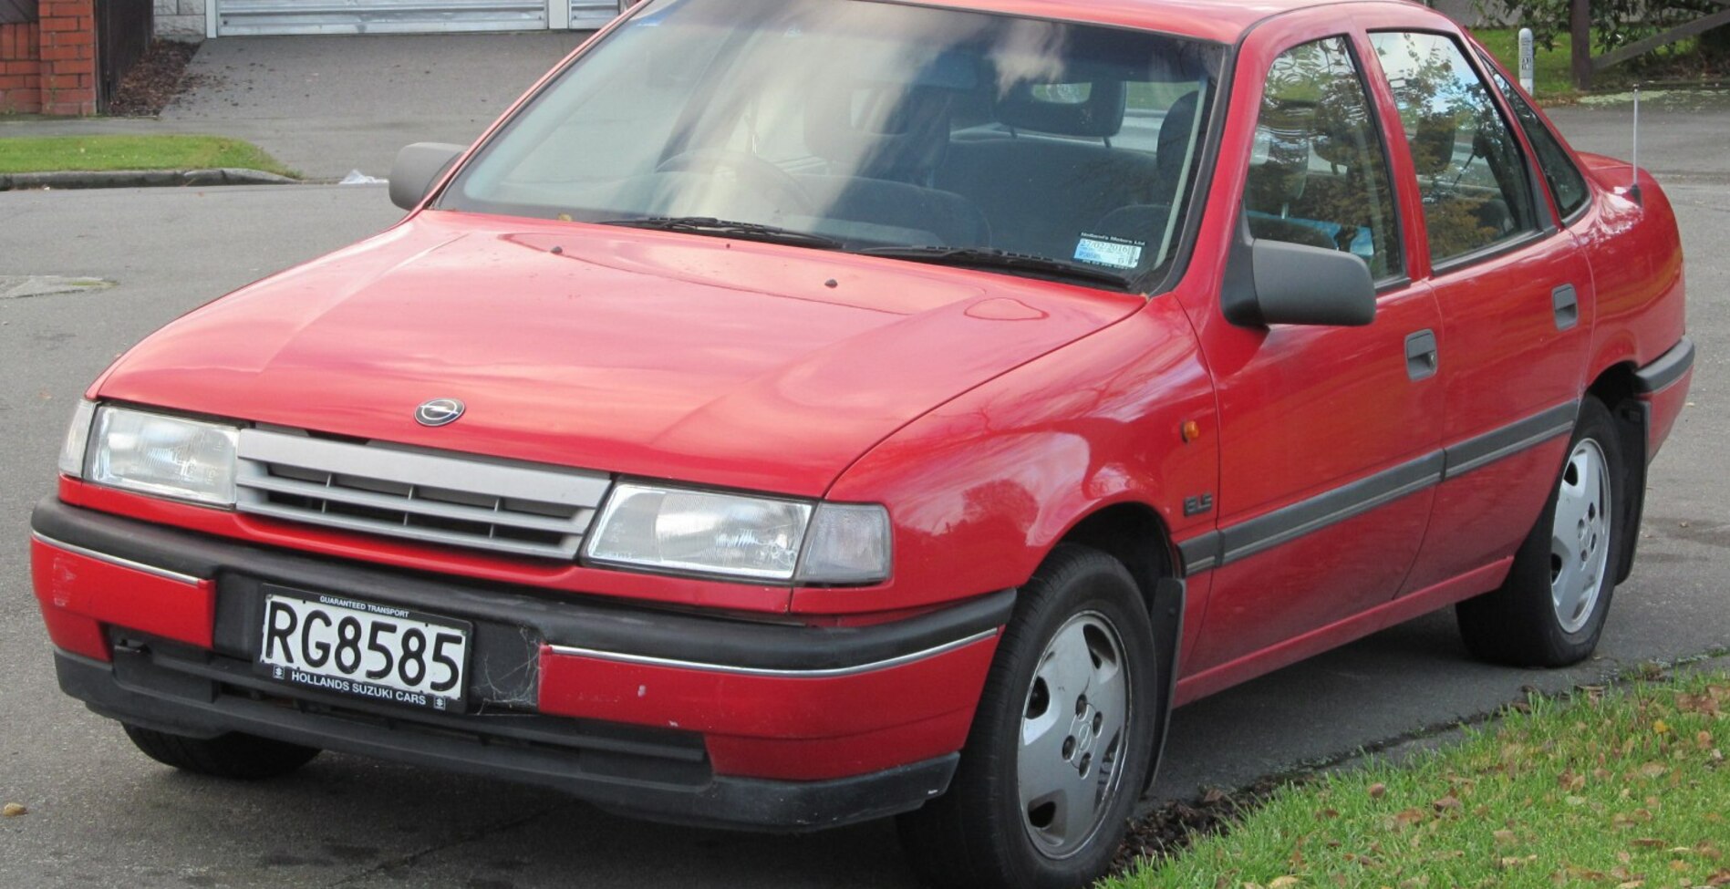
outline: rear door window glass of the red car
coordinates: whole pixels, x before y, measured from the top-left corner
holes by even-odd
[[[1538,228],[1526,166],[1490,90],[1443,35],[1375,33],[1400,106],[1432,263]]]

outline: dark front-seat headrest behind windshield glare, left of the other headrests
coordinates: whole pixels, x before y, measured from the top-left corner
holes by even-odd
[[[948,90],[926,86],[818,86],[804,111],[804,144],[856,176],[917,182],[943,163],[950,99]]]

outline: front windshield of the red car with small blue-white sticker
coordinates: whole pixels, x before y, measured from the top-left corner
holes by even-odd
[[[438,206],[1128,285],[1171,256],[1220,57],[898,3],[654,0]]]

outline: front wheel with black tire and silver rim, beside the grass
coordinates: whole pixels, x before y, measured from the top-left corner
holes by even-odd
[[[1152,766],[1159,673],[1123,564],[1057,547],[1016,598],[948,792],[900,818],[926,884],[1067,889],[1104,875]]]

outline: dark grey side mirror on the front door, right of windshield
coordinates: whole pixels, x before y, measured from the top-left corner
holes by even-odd
[[[1266,239],[1233,251],[1233,259],[1244,253],[1249,261],[1237,265],[1247,265],[1249,275],[1233,275],[1237,280],[1228,282],[1221,294],[1232,323],[1363,327],[1375,320],[1375,282],[1362,258]]]

